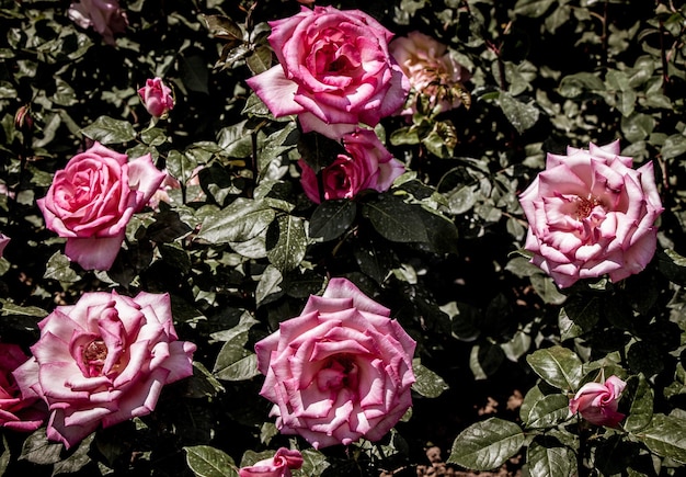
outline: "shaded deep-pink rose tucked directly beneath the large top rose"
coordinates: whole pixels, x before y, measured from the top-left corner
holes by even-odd
[[[323,197],[352,198],[365,189],[378,192],[388,191],[405,170],[402,162],[393,159],[386,150],[374,130],[358,129],[343,136],[343,146],[347,155],[338,158],[324,168],[322,173]],[[300,159],[300,183],[310,201],[319,204],[319,185],[315,171]]]

